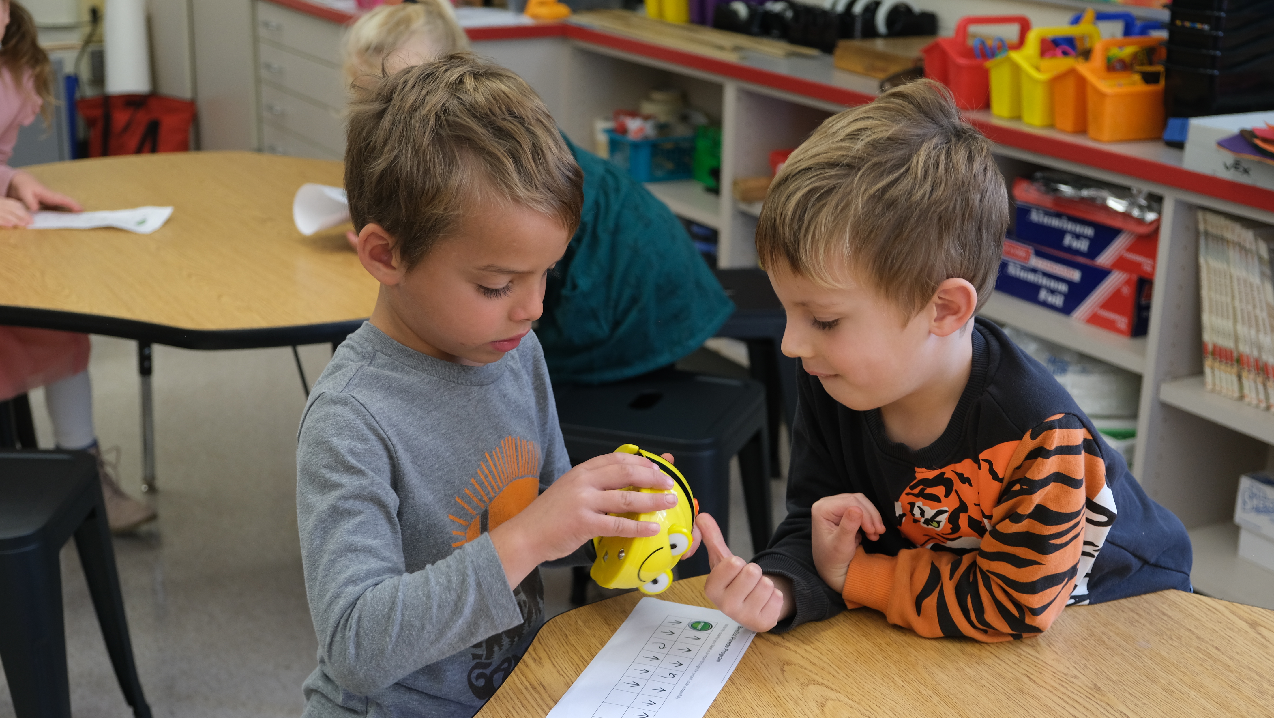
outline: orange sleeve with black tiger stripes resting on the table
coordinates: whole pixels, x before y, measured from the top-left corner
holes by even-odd
[[[1003,482],[978,548],[907,548],[897,556],[860,550],[842,589],[846,604],[883,611],[891,624],[926,638],[991,643],[1046,630],[1075,585],[1087,494],[1105,486],[1106,465],[1074,414],[1033,427],[1005,465],[1012,468],[989,467],[978,477]]]

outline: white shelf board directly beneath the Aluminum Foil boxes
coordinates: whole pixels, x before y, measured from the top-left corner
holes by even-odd
[[[991,295],[981,314],[1120,369],[1145,372],[1145,338],[1120,337],[1003,292]]]

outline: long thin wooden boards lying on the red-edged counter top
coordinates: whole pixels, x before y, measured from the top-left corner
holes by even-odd
[[[768,37],[752,37],[693,23],[669,23],[638,15],[631,10],[585,10],[572,15],[571,22],[735,62],[743,59],[739,54],[743,50],[761,52],[771,57],[790,57],[792,55],[813,57],[819,54],[818,50],[803,45],[791,45]]]

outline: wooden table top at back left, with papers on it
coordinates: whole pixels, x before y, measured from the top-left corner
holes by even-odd
[[[152,235],[0,230],[0,323],[189,338],[350,323],[376,304],[348,224],[303,237],[292,223],[297,187],[340,186],[340,162],[190,152],[24,170],[85,209],[175,209]]]

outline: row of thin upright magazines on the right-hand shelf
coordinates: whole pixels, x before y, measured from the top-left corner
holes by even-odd
[[[1198,210],[1204,384],[1274,411],[1274,227]]]

